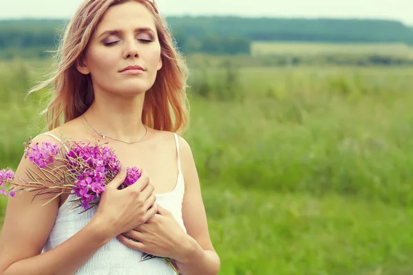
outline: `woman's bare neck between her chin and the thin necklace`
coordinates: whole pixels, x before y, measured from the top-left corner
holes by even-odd
[[[123,142],[136,142],[146,131],[142,123],[144,100],[145,93],[134,98],[100,94],[84,115],[92,131]]]

